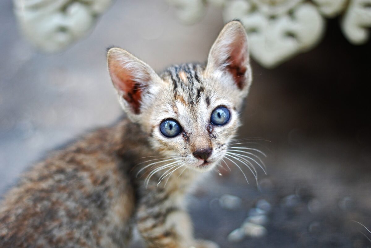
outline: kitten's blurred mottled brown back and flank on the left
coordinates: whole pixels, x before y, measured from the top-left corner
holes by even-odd
[[[27,172],[1,203],[0,247],[121,247],[135,202],[118,163],[125,130],[95,131]]]

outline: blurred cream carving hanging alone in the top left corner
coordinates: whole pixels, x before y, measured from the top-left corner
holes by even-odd
[[[23,34],[45,52],[58,52],[86,36],[112,0],[14,0]]]

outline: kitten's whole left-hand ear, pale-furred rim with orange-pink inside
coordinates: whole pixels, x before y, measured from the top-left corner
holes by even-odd
[[[160,77],[146,63],[117,47],[108,50],[107,62],[121,106],[129,117],[139,115],[148,87]]]

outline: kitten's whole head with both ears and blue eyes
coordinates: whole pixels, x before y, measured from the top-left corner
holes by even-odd
[[[160,154],[178,156],[179,165],[199,171],[224,157],[252,80],[240,22],[224,26],[206,66],[173,66],[159,76],[127,51],[111,48],[108,69],[122,108]]]

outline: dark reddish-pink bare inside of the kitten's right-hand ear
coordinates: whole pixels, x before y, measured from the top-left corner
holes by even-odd
[[[233,44],[233,50],[227,58],[227,69],[232,74],[234,83],[239,89],[243,89],[246,84],[246,54],[243,44]]]

